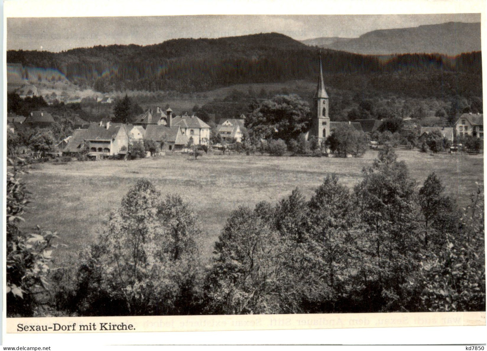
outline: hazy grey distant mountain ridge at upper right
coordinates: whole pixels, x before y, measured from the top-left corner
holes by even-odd
[[[362,55],[439,53],[459,55],[481,50],[480,22],[448,22],[410,28],[379,29],[358,38],[320,37],[306,45]]]

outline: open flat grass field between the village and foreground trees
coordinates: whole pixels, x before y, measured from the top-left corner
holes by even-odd
[[[483,184],[482,155],[431,156],[406,150],[397,154],[418,182],[431,171],[439,174],[460,205],[468,203],[475,182]],[[173,154],[127,162],[36,164],[25,176],[33,195],[23,226],[32,229],[38,224],[59,233],[69,245],[57,251],[60,264],[64,255],[73,255],[94,240],[131,185],[147,178],[163,194],[179,194],[192,204],[206,233],[202,251],[209,257],[226,219],[238,206],[252,207],[262,200],[276,203],[295,187],[309,198],[327,173],[336,173],[352,188],[361,179],[362,168],[376,156],[377,151],[359,159],[208,154],[195,161],[186,154]]]

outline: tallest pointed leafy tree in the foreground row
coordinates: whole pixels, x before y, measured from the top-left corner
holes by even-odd
[[[404,161],[398,162],[393,150],[386,148],[371,168],[364,169],[364,180],[355,188],[366,225],[359,244],[366,252],[363,283],[373,283],[381,291],[374,303],[388,311],[401,310],[413,295],[407,275],[418,264],[415,186]]]

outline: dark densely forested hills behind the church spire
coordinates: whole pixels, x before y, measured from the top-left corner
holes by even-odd
[[[337,89],[381,90],[408,96],[482,96],[480,52],[358,55],[322,49],[327,81]],[[315,79],[318,48],[277,33],[160,44],[110,45],[60,53],[8,51],[7,62],[57,69],[100,92],[202,92],[233,84]]]

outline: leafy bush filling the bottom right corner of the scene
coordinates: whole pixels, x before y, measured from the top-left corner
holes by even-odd
[[[423,257],[418,283],[424,311],[485,311],[485,227],[482,189],[472,196],[462,228],[440,252]]]

